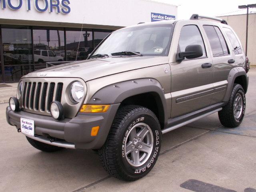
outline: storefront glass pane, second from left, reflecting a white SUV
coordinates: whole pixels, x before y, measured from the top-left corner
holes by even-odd
[[[46,62],[65,60],[64,30],[34,29],[34,70],[46,67]]]

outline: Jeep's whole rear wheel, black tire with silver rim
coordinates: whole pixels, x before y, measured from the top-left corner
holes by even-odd
[[[218,112],[222,125],[230,128],[241,124],[245,113],[246,99],[240,84],[234,84],[228,104]]]

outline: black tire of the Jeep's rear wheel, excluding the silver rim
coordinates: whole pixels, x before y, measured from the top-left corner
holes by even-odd
[[[237,94],[242,96],[242,113],[239,118],[235,118],[234,115],[234,100]],[[228,104],[226,104],[221,111],[218,112],[220,122],[223,126],[234,128],[241,124],[246,107],[246,99],[244,89],[240,84],[234,84]]]

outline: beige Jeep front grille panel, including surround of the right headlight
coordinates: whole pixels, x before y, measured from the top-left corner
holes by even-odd
[[[70,100],[70,84],[80,81],[86,88],[86,84],[80,78],[23,78],[23,90],[19,102],[22,111],[51,116],[50,104],[59,101],[63,106],[65,118],[73,118],[80,110],[83,100],[78,104]]]

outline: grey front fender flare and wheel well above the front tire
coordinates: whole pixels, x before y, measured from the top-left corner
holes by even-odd
[[[89,104],[136,104],[152,110],[161,124],[167,122],[167,105],[161,84],[153,78],[142,78],[110,84],[98,90]]]

